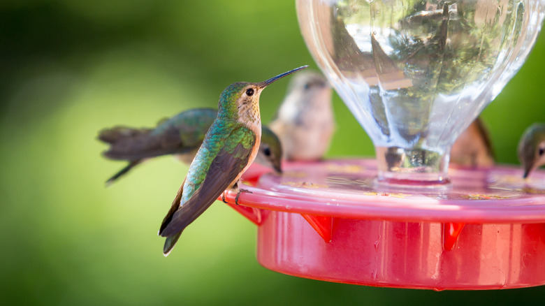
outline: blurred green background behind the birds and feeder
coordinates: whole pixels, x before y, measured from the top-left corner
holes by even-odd
[[[498,161],[545,121],[545,37],[482,117]],[[152,126],[226,85],[314,61],[284,1],[2,0],[0,3],[1,305],[344,305],[528,303],[545,287],[420,291],[333,284],[262,268],[256,228],[222,203],[163,258],[159,224],[187,171],[150,161],[105,188],[124,163],[96,140],[115,124]],[[287,80],[261,96],[263,122]],[[328,156],[372,156],[335,96]]]

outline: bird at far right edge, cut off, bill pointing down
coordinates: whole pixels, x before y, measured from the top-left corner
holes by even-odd
[[[545,165],[545,124],[535,123],[528,127],[518,142],[518,160],[524,169],[523,178],[535,168]]]

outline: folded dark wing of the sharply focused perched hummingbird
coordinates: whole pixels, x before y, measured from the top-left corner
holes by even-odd
[[[180,206],[180,200],[175,199],[173,207],[170,207],[168,214],[163,219],[159,235],[169,237],[179,234],[210,207],[222,192],[235,183],[235,180],[240,177],[242,170],[249,163],[249,158],[254,150],[256,137],[253,132],[252,135],[253,139],[250,143],[240,143],[240,141],[236,141],[235,139],[227,140],[228,143],[237,144],[234,147],[233,145],[224,145],[219,150],[215,159],[210,164],[210,168],[202,184],[191,195],[188,201],[182,203]],[[231,133],[231,136],[233,136],[233,133]],[[230,138],[233,138],[231,136]],[[182,193],[183,191],[180,189],[178,191],[180,199]],[[175,206],[179,207],[174,210]]]

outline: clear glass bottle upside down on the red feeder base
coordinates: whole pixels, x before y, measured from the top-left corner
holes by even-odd
[[[310,53],[372,139],[379,182],[444,184],[454,140],[521,68],[545,0],[297,0]]]

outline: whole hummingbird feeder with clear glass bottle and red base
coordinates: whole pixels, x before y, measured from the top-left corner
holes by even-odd
[[[449,167],[454,140],[528,57],[545,0],[296,5],[307,48],[377,159],[249,168],[250,192],[226,200],[258,226],[259,263],[368,286],[545,284],[545,172]]]

